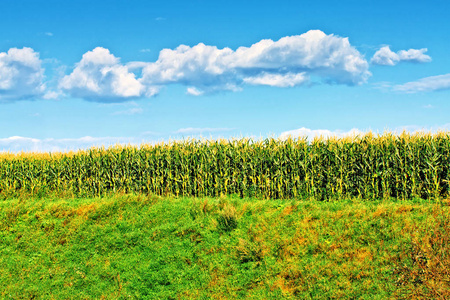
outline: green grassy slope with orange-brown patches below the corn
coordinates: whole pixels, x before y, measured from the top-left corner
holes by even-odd
[[[0,202],[0,298],[438,298],[449,287],[449,208],[10,199]]]

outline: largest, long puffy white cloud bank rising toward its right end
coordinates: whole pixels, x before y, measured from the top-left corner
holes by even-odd
[[[357,85],[370,76],[368,63],[347,38],[311,30],[250,47],[218,49],[198,44],[164,49],[142,70],[145,85],[178,83],[188,93],[239,90],[242,85],[293,87],[311,77],[328,83]]]

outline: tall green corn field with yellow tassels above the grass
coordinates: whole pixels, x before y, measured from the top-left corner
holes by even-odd
[[[181,142],[69,153],[0,153],[0,195],[439,198],[450,134]]]

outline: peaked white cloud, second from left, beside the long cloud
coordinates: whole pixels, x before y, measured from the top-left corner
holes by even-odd
[[[97,102],[120,102],[157,93],[155,87],[142,85],[119,58],[102,47],[86,52],[59,86],[73,97]]]

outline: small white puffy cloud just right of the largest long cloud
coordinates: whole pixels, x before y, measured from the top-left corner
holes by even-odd
[[[426,63],[431,61],[431,57],[425,54],[427,51],[427,48],[422,48],[400,50],[395,53],[389,48],[389,46],[384,46],[375,52],[370,62],[374,65],[382,66],[395,66],[401,61]]]

